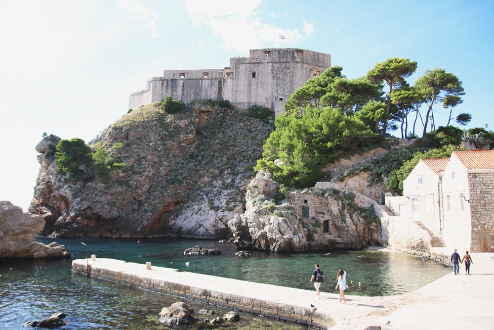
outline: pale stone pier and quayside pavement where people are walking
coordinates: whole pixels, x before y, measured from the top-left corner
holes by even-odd
[[[174,269],[126,263],[114,259],[89,260],[92,277],[101,277],[154,290],[179,293],[232,308],[279,316],[331,329],[494,329],[494,253],[472,253],[471,274],[452,273],[411,293],[388,297],[346,295],[338,301],[334,281],[315,290],[218,278]],[[84,273],[86,259],[73,261],[73,271]],[[462,266],[462,265],[460,265]],[[109,274],[113,275],[109,275]],[[107,275],[105,275],[107,274]],[[182,292],[183,294],[180,294]],[[314,305],[314,308],[310,306]],[[257,306],[258,305],[258,306]],[[252,306],[252,308],[250,308]],[[290,314],[291,313],[291,314]],[[288,315],[288,317],[287,317]],[[386,323],[389,322],[389,325]]]

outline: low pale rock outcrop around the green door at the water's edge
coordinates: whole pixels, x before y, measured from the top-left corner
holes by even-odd
[[[263,171],[248,185],[246,212],[228,222],[238,248],[290,253],[361,249],[382,241],[380,225],[365,218],[373,204],[363,195],[305,189],[291,192],[290,203],[276,205],[269,197],[276,189],[271,174]],[[300,198],[310,200],[312,218],[301,219],[295,212],[301,209]]]

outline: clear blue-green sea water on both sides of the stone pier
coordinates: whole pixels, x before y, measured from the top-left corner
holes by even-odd
[[[27,321],[41,320],[55,312],[65,312],[68,324],[62,329],[167,329],[158,323],[163,307],[181,299],[127,285],[71,273],[73,259],[89,254],[154,266],[171,267],[218,277],[269,283],[313,290],[309,283],[314,264],[325,273],[323,292],[333,292],[336,273],[347,272],[350,295],[392,295],[412,291],[439,277],[449,269],[434,261],[378,251],[333,251],[312,254],[271,254],[251,252],[237,257],[235,245],[193,239],[53,239],[39,237],[43,243],[56,240],[66,245],[71,259],[17,260],[0,262],[0,329],[26,329]],[[139,241],[139,242],[138,242]],[[186,248],[201,245],[218,248],[221,255],[184,256]],[[185,265],[189,262],[189,267]],[[195,267],[194,267],[195,266]],[[334,277],[334,279],[332,279]],[[332,281],[334,280],[334,281]],[[353,281],[353,284],[351,283]],[[334,282],[334,283],[333,283]],[[358,283],[361,283],[360,287]],[[215,310],[218,316],[227,309],[182,299],[195,311]],[[299,325],[241,314],[241,322],[221,329],[307,329]],[[183,328],[185,329],[185,328]],[[187,328],[189,329],[189,328]],[[197,328],[196,329],[200,329]]]

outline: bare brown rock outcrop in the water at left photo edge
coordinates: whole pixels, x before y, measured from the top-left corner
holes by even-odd
[[[44,245],[35,242],[44,227],[39,215],[23,213],[9,201],[0,201],[0,258],[68,257],[65,246],[56,242]]]

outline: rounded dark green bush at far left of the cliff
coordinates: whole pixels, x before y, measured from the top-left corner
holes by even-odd
[[[78,138],[58,141],[55,155],[57,172],[69,173],[76,181],[84,176],[80,166],[87,167],[92,159],[91,148],[84,143],[84,140]]]

